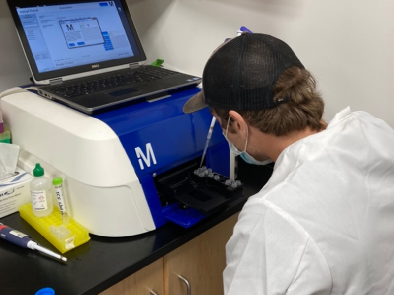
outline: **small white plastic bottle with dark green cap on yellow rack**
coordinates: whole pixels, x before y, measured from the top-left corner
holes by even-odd
[[[35,164],[33,175],[34,178],[30,181],[33,214],[45,217],[53,211],[52,181],[44,176],[44,169],[38,163]]]

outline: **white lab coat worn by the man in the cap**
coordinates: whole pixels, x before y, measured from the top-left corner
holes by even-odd
[[[393,129],[348,107],[287,147],[226,255],[226,295],[393,295]]]

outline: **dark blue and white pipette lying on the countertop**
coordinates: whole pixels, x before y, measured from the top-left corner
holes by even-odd
[[[25,235],[19,231],[16,231],[9,226],[3,225],[0,223],[0,237],[14,243],[15,245],[21,246],[23,248],[29,248],[32,250],[37,250],[39,252],[45,253],[50,257],[54,257],[60,259],[64,262],[67,261],[67,258],[49,250],[45,247],[40,246],[36,241],[34,241],[30,236]]]

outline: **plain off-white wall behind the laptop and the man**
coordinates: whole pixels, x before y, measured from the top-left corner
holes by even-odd
[[[201,75],[240,26],[286,41],[318,79],[326,119],[350,105],[394,126],[393,0],[128,0],[149,62]],[[29,68],[0,0],[0,91]]]

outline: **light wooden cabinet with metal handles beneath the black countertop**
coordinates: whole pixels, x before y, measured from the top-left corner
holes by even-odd
[[[238,214],[197,236],[163,258],[137,271],[100,295],[191,295],[223,294],[222,273],[226,266],[225,246]]]

